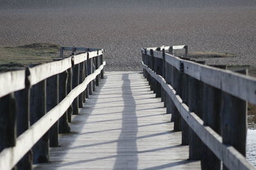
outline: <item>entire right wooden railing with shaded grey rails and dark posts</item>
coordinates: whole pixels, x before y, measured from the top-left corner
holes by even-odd
[[[142,65],[150,88],[172,113],[173,130],[182,131],[182,145],[189,145],[189,160],[201,160],[202,169],[221,169],[221,162],[223,169],[255,169],[245,155],[246,102],[256,104],[256,79],[244,69],[170,54],[179,48],[188,46],[143,48]]]

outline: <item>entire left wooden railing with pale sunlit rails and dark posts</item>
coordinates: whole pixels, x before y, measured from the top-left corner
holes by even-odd
[[[49,146],[59,145],[59,133],[70,132],[71,115],[104,78],[104,49],[77,55],[82,48],[65,47],[70,49],[70,57],[0,74],[1,170],[49,162]]]

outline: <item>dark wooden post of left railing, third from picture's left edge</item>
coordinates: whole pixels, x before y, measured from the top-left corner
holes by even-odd
[[[30,123],[45,115],[46,111],[46,81],[40,81],[31,88],[30,94]],[[49,162],[49,136],[48,132],[33,146],[33,162],[35,164]]]

